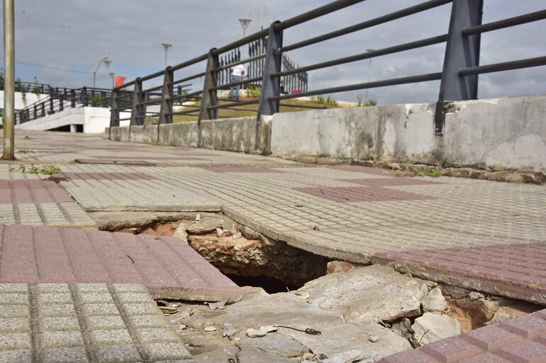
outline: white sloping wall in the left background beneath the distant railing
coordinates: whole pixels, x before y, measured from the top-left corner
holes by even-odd
[[[50,130],[67,125],[83,125],[84,133],[98,134],[110,125],[110,110],[99,107],[65,108],[61,112],[16,125],[16,129]]]

